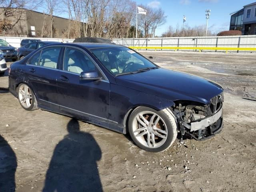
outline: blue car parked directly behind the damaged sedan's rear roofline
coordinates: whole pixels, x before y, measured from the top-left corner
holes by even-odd
[[[34,50],[45,46],[46,44],[56,43],[56,41],[39,41],[26,44],[23,47],[18,48],[18,59],[22,60],[25,56],[33,52]]]

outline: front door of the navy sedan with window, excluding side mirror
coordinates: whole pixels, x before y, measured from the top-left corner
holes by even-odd
[[[61,68],[61,66],[60,66]],[[57,88],[60,109],[88,122],[109,125],[110,83],[84,50],[67,47],[63,70],[58,72]],[[80,73],[96,70],[102,80],[80,80]]]

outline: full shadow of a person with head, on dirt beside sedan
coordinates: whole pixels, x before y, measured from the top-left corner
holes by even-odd
[[[79,130],[77,120],[70,120],[67,130],[54,149],[43,192],[102,191],[96,163],[100,147],[91,134]]]

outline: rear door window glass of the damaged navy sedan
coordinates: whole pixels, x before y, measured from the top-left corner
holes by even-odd
[[[56,69],[60,55],[60,49],[60,47],[43,49],[39,60],[39,66]]]

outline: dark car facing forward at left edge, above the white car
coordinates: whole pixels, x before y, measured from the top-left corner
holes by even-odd
[[[12,61],[17,60],[17,48],[11,46],[3,39],[0,39],[0,51],[2,51],[5,59],[11,59]]]

